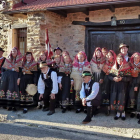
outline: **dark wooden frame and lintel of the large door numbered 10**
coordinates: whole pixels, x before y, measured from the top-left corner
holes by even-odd
[[[126,19],[117,20],[117,26],[111,26],[109,22],[79,22],[73,21],[74,25],[84,25],[85,29],[85,53],[89,56],[89,33],[90,31],[129,31],[129,30],[140,30],[140,19]]]

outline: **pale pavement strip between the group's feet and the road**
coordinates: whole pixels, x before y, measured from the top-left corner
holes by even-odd
[[[96,135],[103,137],[103,140],[140,139],[138,120],[130,118],[129,115],[125,121],[121,119],[114,121],[114,114],[105,116],[100,113],[92,118],[91,123],[83,125],[81,122],[85,116],[84,113],[76,114],[74,111],[62,114],[60,109],[56,109],[56,113],[52,116],[47,116],[47,112],[38,109],[29,110],[27,114],[23,114],[22,110],[12,112],[0,109],[0,121],[5,123],[18,123],[82,135]]]

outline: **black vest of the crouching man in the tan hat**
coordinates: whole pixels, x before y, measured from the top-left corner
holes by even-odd
[[[45,83],[45,88],[50,89],[50,90],[52,89],[52,86],[53,86],[52,79],[51,79],[51,73],[52,73],[52,70],[49,70],[48,74],[46,75],[46,79],[44,78],[44,74],[41,73],[41,78]]]

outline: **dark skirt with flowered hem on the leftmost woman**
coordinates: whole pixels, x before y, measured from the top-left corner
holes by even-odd
[[[0,106],[19,107],[18,76],[19,73],[16,71],[7,70],[3,72],[0,84]]]

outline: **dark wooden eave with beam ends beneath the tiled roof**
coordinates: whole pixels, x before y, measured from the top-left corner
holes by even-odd
[[[110,9],[112,12],[115,12],[115,8],[132,7],[132,6],[140,6],[140,0],[127,0],[127,1],[119,0],[119,1],[107,1],[107,2],[98,2],[98,3],[81,4],[81,5],[48,7],[42,10],[23,9],[23,10],[15,10],[15,11],[4,11],[3,14],[11,15],[16,13],[28,13],[28,12],[48,10],[66,17],[67,13],[83,12],[86,15],[88,15],[89,11]]]

